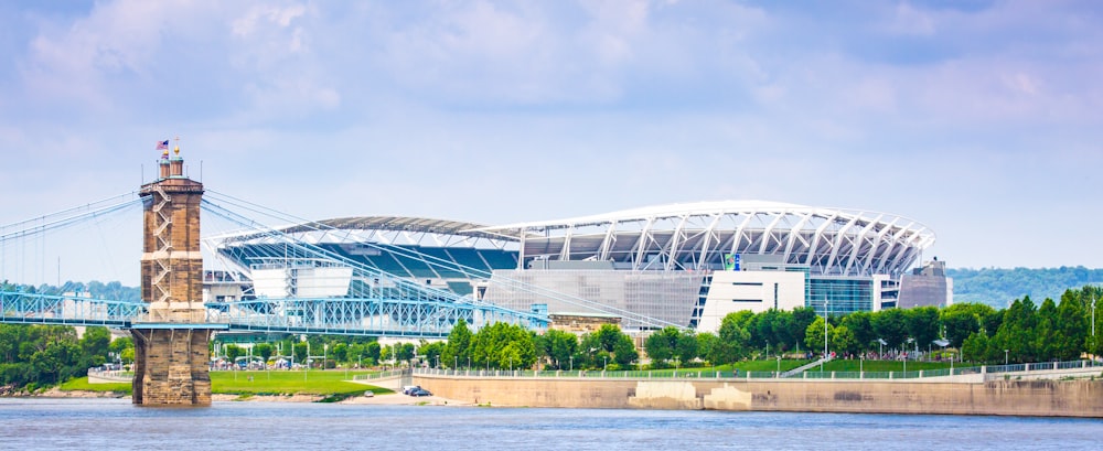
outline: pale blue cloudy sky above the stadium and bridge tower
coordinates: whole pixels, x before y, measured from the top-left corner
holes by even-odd
[[[208,190],[308,218],[762,200],[915,219],[951,267],[1103,267],[1099,23],[1057,0],[0,2],[0,224],[132,192],[173,139]]]

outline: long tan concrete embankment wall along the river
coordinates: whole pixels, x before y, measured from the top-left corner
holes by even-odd
[[[970,384],[415,375],[414,383],[446,398],[491,406],[1103,418],[1103,380]]]

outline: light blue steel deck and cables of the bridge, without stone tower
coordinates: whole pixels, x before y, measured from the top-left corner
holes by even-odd
[[[74,228],[85,223],[100,222],[105,217],[129,212],[142,206],[137,192],[69,208],[31,221],[0,227],[0,245],[19,247],[20,243],[45,234]],[[148,202],[148,201],[147,201]],[[347,234],[324,224],[298,218],[266,208],[247,201],[207,190],[202,201],[205,217],[219,218],[237,227],[235,235],[279,248],[287,258],[274,262],[283,269],[296,265],[340,268],[351,275],[343,296],[299,297],[289,293],[280,298],[248,297],[233,301],[206,302],[205,323],[213,330],[227,333],[268,334],[336,334],[379,337],[435,339],[445,337],[454,324],[463,320],[473,329],[495,322],[523,325],[533,330],[548,325],[546,312],[521,312],[504,309],[471,297],[457,294],[397,277],[378,268],[350,259],[303,238],[303,232]],[[244,212],[244,213],[243,213]],[[250,217],[251,216],[251,217]],[[266,225],[261,216],[291,227],[275,228]],[[204,243],[213,243],[204,239]],[[420,254],[408,247],[384,243],[365,243],[378,250],[416,258],[425,264],[463,273],[467,277],[507,284],[511,290],[535,292],[549,299],[578,305],[581,309],[636,318],[644,323],[665,326],[661,321],[640,316],[633,312],[598,304],[585,299],[529,286],[508,278],[491,278],[482,269],[463,266],[457,261]],[[23,245],[25,246],[25,245]],[[217,254],[218,249],[210,249]],[[8,258],[8,253],[0,254]],[[58,269],[60,271],[60,269]],[[0,322],[21,324],[103,325],[132,329],[154,323],[149,304],[140,300],[96,299],[75,293],[35,293],[0,287]],[[293,290],[292,290],[293,291]]]

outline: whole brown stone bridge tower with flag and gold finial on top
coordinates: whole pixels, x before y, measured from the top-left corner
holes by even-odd
[[[204,324],[200,200],[203,184],[184,176],[180,147],[142,185],[141,296],[149,319],[135,323],[133,404],[207,406],[211,329]]]

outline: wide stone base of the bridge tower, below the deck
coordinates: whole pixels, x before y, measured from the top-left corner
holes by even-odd
[[[135,340],[133,404],[210,406],[210,329],[131,330]]]

